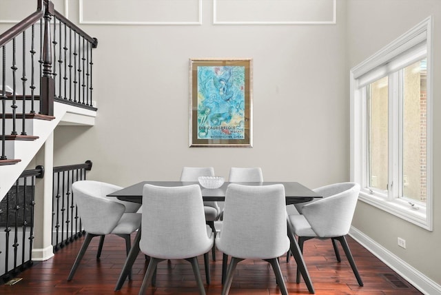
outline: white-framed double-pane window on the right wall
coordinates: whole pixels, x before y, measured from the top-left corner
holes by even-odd
[[[431,18],[351,70],[360,200],[432,230]]]

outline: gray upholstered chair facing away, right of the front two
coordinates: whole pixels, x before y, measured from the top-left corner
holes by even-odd
[[[285,187],[230,184],[225,192],[223,225],[216,236],[216,247],[232,256],[222,294],[229,292],[236,265],[248,258],[271,263],[280,291],[288,294],[278,263],[278,257],[289,249]]]

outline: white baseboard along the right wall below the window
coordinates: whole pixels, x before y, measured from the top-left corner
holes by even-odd
[[[369,250],[369,252],[380,259],[380,261],[391,267],[391,269],[393,269],[393,271],[395,271],[397,274],[400,274],[400,276],[420,290],[420,292],[423,294],[441,295],[441,285],[438,285],[430,278],[419,272],[418,269],[415,269],[395,254],[382,247],[382,245],[379,245],[376,243],[376,241],[373,241],[371,238],[369,238],[369,236],[366,236],[357,230],[356,227],[351,227],[349,236]]]

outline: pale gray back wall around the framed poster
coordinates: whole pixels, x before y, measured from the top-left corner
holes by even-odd
[[[71,19],[78,19],[72,6]],[[260,166],[310,187],[349,179],[345,5],[336,25],[82,26],[94,51],[93,128],[59,127],[57,158],[94,163],[91,179],[178,179],[184,165]],[[189,148],[189,58],[252,58],[254,148]],[[81,151],[81,152],[79,152]]]

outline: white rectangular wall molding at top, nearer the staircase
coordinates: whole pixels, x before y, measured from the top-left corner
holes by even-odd
[[[127,6],[130,4],[127,4],[130,0],[121,0],[121,5]],[[161,1],[161,0],[157,0]],[[132,21],[132,20],[92,20],[87,19],[85,16],[85,6],[87,6],[86,3],[91,3],[90,1],[83,1],[79,0],[79,23],[84,25],[118,25],[118,26],[199,26],[202,24],[202,0],[194,0],[195,3],[197,3],[197,7],[195,6],[194,9],[197,9],[197,17],[193,21],[152,21],[152,20],[138,20],[138,21]],[[179,13],[183,13],[182,11]]]

